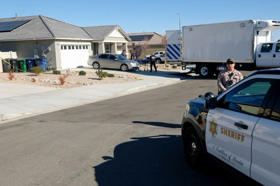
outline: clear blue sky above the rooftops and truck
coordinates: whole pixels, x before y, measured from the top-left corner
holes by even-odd
[[[177,30],[181,26],[240,20],[280,20],[279,0],[234,1],[2,1],[0,18],[44,15],[77,26],[119,26],[126,33]],[[280,39],[280,28],[272,40]]]

